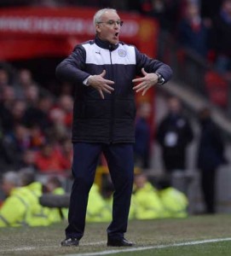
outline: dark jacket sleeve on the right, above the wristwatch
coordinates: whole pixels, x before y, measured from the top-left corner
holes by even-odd
[[[141,74],[141,68],[147,73],[159,73],[165,79],[165,83],[170,80],[172,76],[172,70],[170,66],[165,63],[149,58],[147,55],[142,54],[138,49],[136,49],[136,74],[143,76]]]

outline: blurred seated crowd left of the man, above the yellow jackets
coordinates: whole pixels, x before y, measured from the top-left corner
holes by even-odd
[[[14,82],[12,81],[14,80]],[[54,96],[28,69],[0,67],[0,168],[65,175],[72,162],[72,95]]]

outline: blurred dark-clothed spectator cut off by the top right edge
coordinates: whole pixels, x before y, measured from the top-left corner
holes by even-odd
[[[231,78],[231,0],[223,0],[213,24],[213,44],[217,54],[216,68]]]

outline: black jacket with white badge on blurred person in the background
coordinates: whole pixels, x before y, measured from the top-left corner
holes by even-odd
[[[157,140],[162,148],[166,171],[185,170],[186,148],[193,140],[193,130],[182,114],[168,114],[159,124]]]

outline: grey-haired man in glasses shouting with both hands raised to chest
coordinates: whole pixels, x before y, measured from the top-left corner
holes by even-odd
[[[84,236],[88,195],[101,152],[113,180],[113,221],[107,246],[132,246],[124,239],[133,186],[136,92],[170,79],[171,69],[118,41],[123,22],[115,9],[94,16],[96,36],[78,45],[56,68],[58,79],[75,84],[72,126],[74,183],[62,246],[78,246]],[[143,75],[134,79],[136,74]],[[133,83],[140,82],[133,87]]]

